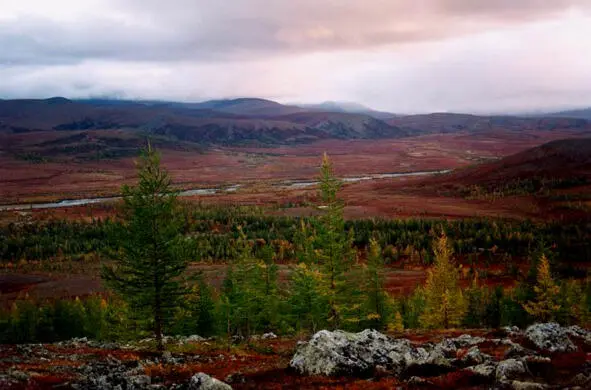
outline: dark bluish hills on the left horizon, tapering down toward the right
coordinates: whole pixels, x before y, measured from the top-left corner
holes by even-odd
[[[192,149],[404,135],[368,115],[305,112],[263,99],[195,104],[65,98],[0,101],[0,152],[34,158],[131,155],[147,136],[155,137],[159,147]]]

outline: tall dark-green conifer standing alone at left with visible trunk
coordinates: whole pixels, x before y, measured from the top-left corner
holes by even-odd
[[[138,163],[139,183],[123,186],[120,256],[102,277],[154,331],[157,348],[186,288],[179,282],[188,259],[183,250],[177,193],[150,145]]]

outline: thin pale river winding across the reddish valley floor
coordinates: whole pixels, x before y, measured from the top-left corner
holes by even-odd
[[[441,171],[417,171],[417,172],[406,172],[406,173],[377,173],[373,175],[355,176],[355,177],[344,177],[341,180],[344,183],[357,183],[365,180],[378,180],[378,179],[390,179],[398,177],[410,177],[410,176],[427,176],[435,174],[443,174],[451,172],[450,169]],[[273,185],[275,189],[280,190],[294,190],[306,187],[312,187],[318,184],[318,181],[284,181]],[[198,188],[181,191],[179,196],[198,196],[198,195],[217,195],[227,194],[230,192],[238,191],[243,185],[233,184],[230,186],[213,187],[213,188]],[[24,203],[24,204],[13,204],[0,206],[0,211],[18,211],[18,210],[35,210],[35,209],[53,209],[60,207],[72,207],[72,206],[83,206],[95,203],[107,203],[115,200],[119,200],[121,197],[105,197],[105,198],[86,198],[86,199],[64,199],[58,202],[48,203]]]

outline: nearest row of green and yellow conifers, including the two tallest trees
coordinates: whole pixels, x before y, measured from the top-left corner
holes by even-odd
[[[149,149],[140,161],[139,184],[123,189],[122,223],[112,227],[119,243],[112,253],[116,261],[102,272],[107,285],[123,301],[109,305],[102,300],[98,306],[95,298],[88,303],[76,300],[41,306],[19,302],[0,315],[2,338],[44,341],[40,335],[45,334],[51,338],[87,335],[108,339],[121,337],[121,333],[105,329],[127,328],[137,334],[153,332],[162,350],[163,334],[225,335],[231,339],[268,331],[291,334],[322,328],[401,331],[526,325],[535,320],[589,321],[590,284],[557,284],[550,262],[542,254],[535,256],[538,263],[516,289],[480,286],[477,274],[470,288],[460,288],[460,269],[453,253],[454,248],[461,251],[463,246],[453,241],[457,232],[441,226],[438,231],[432,226],[429,232],[429,248],[433,250],[428,256],[433,267],[425,285],[410,296],[391,297],[384,280],[387,248],[377,234],[363,238],[367,246],[360,259],[355,242],[359,235],[355,225],[346,226],[338,198],[341,183],[326,155],[317,205],[321,215],[298,221],[289,242],[295,259],[289,275],[279,274],[277,262],[283,258],[276,247],[264,239],[253,240],[238,227],[230,243],[233,256],[225,280],[221,289],[215,290],[203,275],[187,276],[200,235],[187,236],[187,226],[193,222],[170,184],[158,155]],[[359,227],[365,232],[363,225]],[[393,250],[398,251],[391,248],[390,252]],[[61,322],[65,312],[60,305],[75,319],[74,330],[64,330],[70,325]],[[110,327],[112,323],[119,325]],[[44,328],[53,331],[44,332]]]

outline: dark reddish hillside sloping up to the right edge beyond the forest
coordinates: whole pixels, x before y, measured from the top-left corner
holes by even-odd
[[[529,198],[538,210],[560,215],[584,212],[591,183],[591,138],[563,139],[505,157],[426,179],[419,192],[436,192],[467,199]],[[533,196],[533,198],[531,198]],[[573,209],[574,207],[574,209]],[[583,213],[584,214],[584,213]]]

